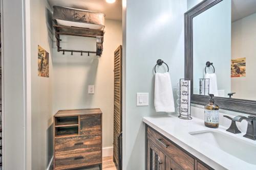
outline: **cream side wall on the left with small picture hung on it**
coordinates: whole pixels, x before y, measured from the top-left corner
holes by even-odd
[[[32,169],[46,169],[52,156],[51,30],[47,27],[46,0],[31,0]],[[37,76],[37,45],[49,53],[49,78]]]

